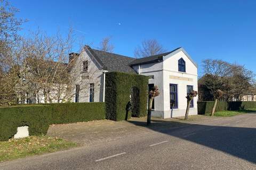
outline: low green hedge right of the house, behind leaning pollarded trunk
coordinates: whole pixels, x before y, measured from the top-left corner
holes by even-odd
[[[211,113],[214,101],[197,102],[198,114]],[[256,101],[218,101],[215,111],[238,111],[256,108]]]

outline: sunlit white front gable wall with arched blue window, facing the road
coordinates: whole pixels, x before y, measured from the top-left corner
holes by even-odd
[[[179,71],[179,60],[185,62],[185,69]],[[171,92],[170,84],[177,87],[177,91]],[[189,87],[188,87],[189,86]],[[163,57],[163,94],[164,107],[163,118],[184,116],[187,108],[188,88],[193,87],[197,91],[197,66],[182,50],[174,55]],[[172,93],[172,95],[170,94]],[[171,98],[175,96],[175,105],[171,108]],[[193,99],[193,107],[189,109],[189,115],[197,114],[197,97]]]

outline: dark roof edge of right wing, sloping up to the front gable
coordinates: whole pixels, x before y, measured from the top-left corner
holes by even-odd
[[[178,50],[180,48],[181,47],[176,48],[176,49],[172,50],[171,52],[167,52],[167,53],[157,54],[157,55],[143,57],[143,58],[138,58],[138,59],[132,61],[130,63],[130,65],[132,66],[132,65],[138,65],[138,64],[145,64],[145,63],[153,63],[153,62],[163,61],[163,56],[171,54],[172,52],[174,52],[175,50]]]

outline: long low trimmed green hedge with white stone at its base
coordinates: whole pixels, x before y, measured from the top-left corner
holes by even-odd
[[[51,124],[102,120],[105,103],[63,103],[0,107],[0,141],[17,133],[17,127],[28,125],[30,135],[46,134]]]

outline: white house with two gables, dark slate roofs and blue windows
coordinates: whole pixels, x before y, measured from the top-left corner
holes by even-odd
[[[105,73],[112,71],[150,77],[149,88],[158,86],[160,91],[153,106],[155,117],[184,116],[187,93],[197,91],[197,64],[183,48],[136,59],[85,46],[80,54],[71,53],[69,57],[76,62],[72,72],[74,102],[104,101]],[[189,114],[197,114],[197,97],[191,103]]]

